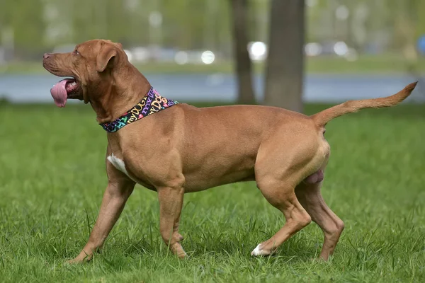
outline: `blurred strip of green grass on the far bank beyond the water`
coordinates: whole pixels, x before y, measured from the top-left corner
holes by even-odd
[[[191,74],[191,73],[232,73],[232,62],[220,62],[210,65],[177,65],[170,63],[135,64],[145,74]],[[254,71],[263,71],[264,64],[254,64]],[[307,57],[306,71],[310,74],[403,74],[409,69],[425,73],[425,57],[416,62],[408,62],[399,54],[363,55],[354,62],[340,57]],[[0,74],[38,74],[45,73],[40,62],[14,62],[8,66],[0,66]]]

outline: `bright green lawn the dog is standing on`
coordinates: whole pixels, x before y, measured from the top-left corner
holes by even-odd
[[[185,196],[186,260],[162,243],[156,193],[137,186],[103,253],[69,266],[106,187],[106,134],[88,105],[0,105],[0,281],[425,282],[424,110],[364,110],[327,126],[322,192],[346,224],[330,262],[310,260],[316,224],[252,258],[284,219],[254,183],[238,183]]]

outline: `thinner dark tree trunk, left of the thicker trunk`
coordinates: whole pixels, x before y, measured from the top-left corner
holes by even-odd
[[[236,66],[238,103],[255,103],[252,88],[251,59],[247,49],[248,36],[246,33],[248,15],[247,0],[230,0],[232,5],[233,23],[233,57]]]

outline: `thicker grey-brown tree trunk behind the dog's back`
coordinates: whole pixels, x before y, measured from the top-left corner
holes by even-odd
[[[304,0],[272,0],[264,104],[302,112]]]

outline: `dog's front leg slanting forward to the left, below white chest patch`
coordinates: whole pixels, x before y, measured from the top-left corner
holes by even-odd
[[[98,219],[90,233],[89,241],[87,241],[86,246],[84,246],[77,258],[69,260],[69,263],[91,260],[93,253],[103,246],[106,237],[108,237],[109,232],[111,232],[115,222],[121,212],[123,212],[125,202],[127,202],[134,187],[135,183],[128,180],[128,178],[111,178],[110,176],[108,187],[106,187],[103,194]]]

